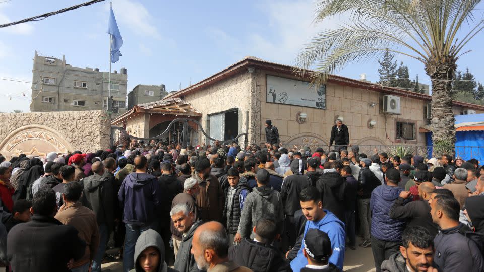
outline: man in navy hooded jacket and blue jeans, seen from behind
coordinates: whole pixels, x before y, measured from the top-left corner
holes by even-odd
[[[123,222],[126,223],[123,249],[125,272],[135,267],[135,245],[140,234],[148,229],[156,229],[156,211],[161,208],[162,199],[158,179],[146,173],[146,157],[137,156],[134,164],[136,172],[126,176],[117,195],[123,209]]]

